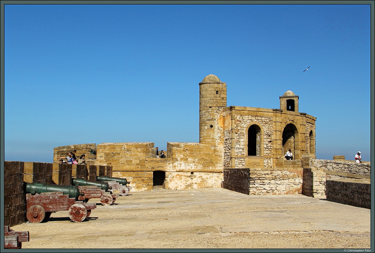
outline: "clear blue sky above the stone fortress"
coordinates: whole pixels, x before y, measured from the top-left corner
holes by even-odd
[[[199,85],[227,106],[317,117],[316,156],[371,159],[369,4],[6,4],[5,160],[53,148],[199,142]],[[308,71],[303,72],[310,66]]]

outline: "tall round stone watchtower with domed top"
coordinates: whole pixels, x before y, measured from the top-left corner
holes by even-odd
[[[226,107],[226,83],[208,75],[199,83],[199,142],[216,144],[220,128],[218,117]]]

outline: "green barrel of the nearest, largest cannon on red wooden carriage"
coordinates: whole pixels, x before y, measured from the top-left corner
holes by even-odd
[[[69,195],[69,198],[75,198],[78,201],[78,196],[84,196],[77,186],[64,186],[60,184],[44,184],[42,182],[26,183],[26,193],[42,193],[42,192],[63,192],[64,195]]]

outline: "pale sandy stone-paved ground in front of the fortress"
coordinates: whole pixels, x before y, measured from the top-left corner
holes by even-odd
[[[71,222],[68,211],[23,223],[23,249],[370,249],[366,208],[304,195],[249,196],[226,189],[130,192]],[[374,250],[372,249],[372,252]]]

